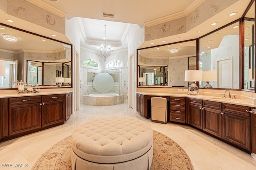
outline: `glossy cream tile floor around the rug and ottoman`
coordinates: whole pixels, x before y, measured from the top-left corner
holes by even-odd
[[[64,125],[46,129],[17,139],[0,143],[0,170],[30,170],[36,160],[58,141],[72,135],[83,122],[98,117],[136,117],[151,125],[178,143],[190,157],[194,170],[256,170],[256,162],[250,154],[238,150],[218,139],[186,125],[152,123],[140,116],[127,102],[115,106],[88,106],[81,108]],[[6,168],[5,163],[27,164],[26,168]]]

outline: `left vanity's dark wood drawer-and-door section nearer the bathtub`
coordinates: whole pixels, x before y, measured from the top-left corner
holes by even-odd
[[[65,94],[42,96],[42,127],[63,123],[66,116]]]

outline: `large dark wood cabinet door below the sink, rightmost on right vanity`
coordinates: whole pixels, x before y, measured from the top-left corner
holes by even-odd
[[[246,150],[251,150],[250,145],[250,116],[224,112],[222,117],[222,139]]]

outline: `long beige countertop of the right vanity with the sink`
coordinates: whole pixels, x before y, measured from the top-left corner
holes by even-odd
[[[221,102],[227,104],[236,104],[241,106],[249,106],[249,107],[256,107],[255,104],[251,104],[249,101],[241,100],[241,99],[229,99],[229,98],[222,98],[216,96],[205,96],[205,95],[188,95],[188,94],[171,94],[171,93],[149,93],[149,92],[137,92],[138,94],[148,95],[148,96],[173,96],[173,97],[186,97],[186,98],[195,98],[195,99],[202,99],[202,100],[210,100],[214,102]]]

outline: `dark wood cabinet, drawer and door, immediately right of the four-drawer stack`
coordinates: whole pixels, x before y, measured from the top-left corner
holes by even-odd
[[[200,99],[188,98],[188,124],[203,129],[203,112]]]

